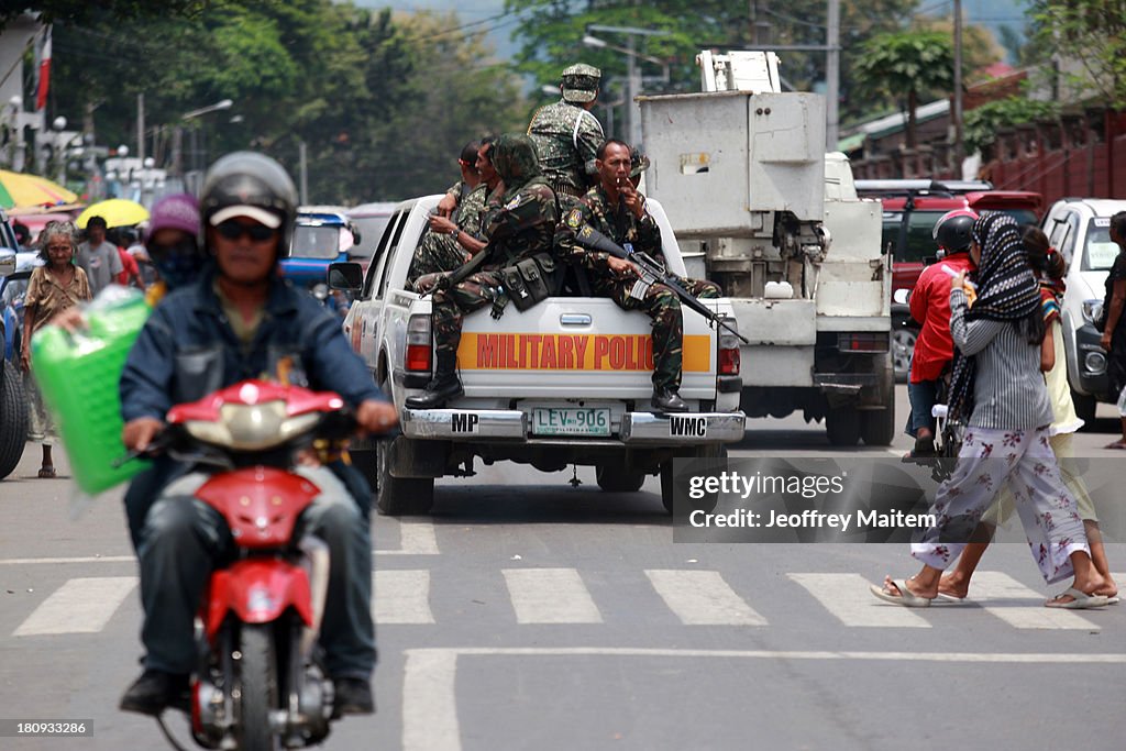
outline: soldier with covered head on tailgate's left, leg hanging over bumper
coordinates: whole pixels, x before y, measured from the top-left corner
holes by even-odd
[[[465,279],[435,290],[430,323],[437,363],[426,391],[406,400],[411,409],[436,409],[463,393],[455,372],[462,319],[486,305],[503,304],[500,269],[537,253],[555,253],[555,193],[539,172],[531,140],[522,134],[500,136],[492,163],[506,190],[486,229],[489,242],[482,252],[488,256]]]

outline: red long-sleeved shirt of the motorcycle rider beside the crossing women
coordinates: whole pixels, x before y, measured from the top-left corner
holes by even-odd
[[[950,279],[942,267],[956,272],[971,271],[969,253],[954,253],[923,269],[911,293],[911,318],[922,324],[911,360],[911,383],[938,381],[942,368],[954,359],[950,337]]]

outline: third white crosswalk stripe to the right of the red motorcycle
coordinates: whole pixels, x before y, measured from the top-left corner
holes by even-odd
[[[686,626],[766,626],[718,571],[646,570],[669,609]]]

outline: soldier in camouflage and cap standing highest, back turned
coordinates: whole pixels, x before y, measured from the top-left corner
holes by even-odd
[[[560,197],[581,197],[597,181],[595,158],[606,136],[590,108],[601,77],[591,65],[571,65],[560,80],[563,99],[537,109],[528,125],[539,166]]]

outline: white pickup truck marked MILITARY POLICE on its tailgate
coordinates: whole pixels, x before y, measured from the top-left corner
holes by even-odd
[[[352,452],[373,482],[376,509],[427,513],[435,479],[472,475],[481,457],[543,472],[595,466],[598,484],[613,492],[636,491],[660,473],[671,512],[672,458],[722,456],[725,444],[743,438],[738,339],[682,309],[680,396],[691,411],[661,415],[649,411],[653,355],[643,313],[600,297],[552,297],[524,312],[509,305],[500,320],[485,307],[464,319],[457,352],[464,396],[447,409],[406,409],[434,364],[430,296],[405,288],[406,271],[439,198],[397,206],[366,275],[355,263],[333,265],[329,274],[332,286],[356,294],[345,333],[400,410],[401,436]],[[683,274],[663,209],[647,205],[669,270]],[[704,302],[731,316],[726,299]]]

